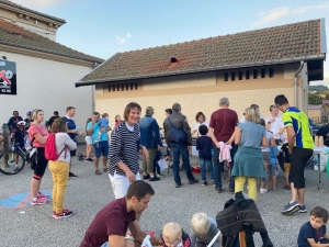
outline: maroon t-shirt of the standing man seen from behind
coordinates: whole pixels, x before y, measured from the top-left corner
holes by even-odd
[[[235,111],[230,109],[219,109],[213,112],[209,127],[214,128],[217,141],[222,142],[230,138],[238,123],[238,114]]]

